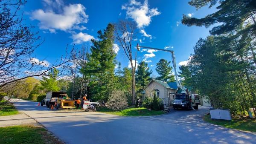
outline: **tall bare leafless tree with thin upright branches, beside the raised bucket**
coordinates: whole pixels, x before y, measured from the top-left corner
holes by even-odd
[[[135,85],[135,71],[136,71],[136,57],[137,52],[135,51],[135,60],[133,59],[132,51],[135,50],[132,47],[132,42],[136,34],[136,23],[132,21],[119,20],[119,23],[115,25],[115,40],[121,46],[125,52],[125,55],[131,63],[131,73],[132,73],[132,96],[133,104],[136,98],[136,85]],[[133,63],[134,61],[134,63]]]

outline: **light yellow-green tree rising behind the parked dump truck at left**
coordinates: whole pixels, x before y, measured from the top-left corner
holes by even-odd
[[[53,91],[58,92],[60,88],[58,87],[58,81],[56,80],[58,77],[59,70],[54,68],[51,69],[48,73],[47,77],[42,77],[42,80],[40,80],[41,89],[46,91]]]

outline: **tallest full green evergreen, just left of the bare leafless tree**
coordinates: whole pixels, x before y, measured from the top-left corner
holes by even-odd
[[[88,62],[81,72],[90,75],[90,92],[95,101],[108,100],[109,92],[116,87],[114,75],[115,57],[113,52],[113,30],[114,26],[108,24],[102,32],[98,31],[98,39],[92,39],[91,54],[88,54]]]

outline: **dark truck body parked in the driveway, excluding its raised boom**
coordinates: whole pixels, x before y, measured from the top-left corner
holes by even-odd
[[[173,108],[183,108],[190,109],[193,107],[194,109],[198,109],[199,105],[199,96],[197,94],[175,94],[175,100],[173,102]]]

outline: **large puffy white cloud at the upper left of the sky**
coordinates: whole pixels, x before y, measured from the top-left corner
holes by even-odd
[[[55,33],[56,30],[86,29],[80,26],[88,22],[88,15],[82,4],[64,6],[62,0],[44,0],[45,10],[37,9],[32,12],[31,19],[39,20],[39,28]],[[56,12],[55,12],[56,11]]]

